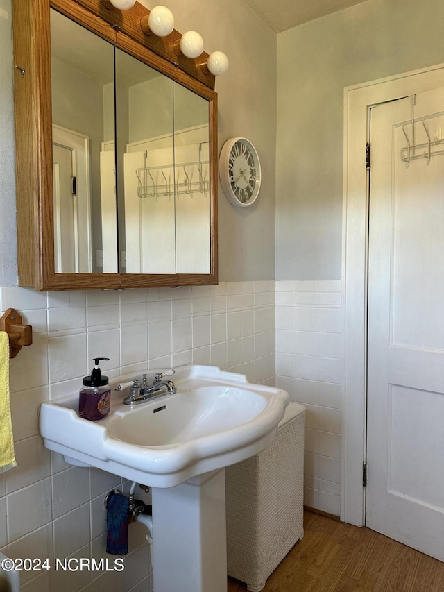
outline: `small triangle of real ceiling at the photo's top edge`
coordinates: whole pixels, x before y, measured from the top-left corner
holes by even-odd
[[[364,1],[366,0],[246,0],[276,33]]]

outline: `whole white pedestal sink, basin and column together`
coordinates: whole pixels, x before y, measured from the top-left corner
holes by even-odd
[[[214,366],[183,366],[173,380],[176,394],[135,407],[114,393],[101,421],[78,416],[78,395],[43,403],[40,433],[71,464],[153,488],[155,592],[225,592],[224,468],[273,441],[289,395]]]

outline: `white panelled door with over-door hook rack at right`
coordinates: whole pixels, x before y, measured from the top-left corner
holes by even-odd
[[[444,561],[444,90],[411,102],[370,115],[366,525]]]

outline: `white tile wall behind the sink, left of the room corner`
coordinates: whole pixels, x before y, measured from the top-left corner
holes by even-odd
[[[111,376],[196,363],[275,384],[274,303],[275,282],[48,294],[0,288],[1,312],[14,307],[33,325],[33,345],[10,361],[18,466],[0,475],[1,552],[48,557],[51,564],[55,558],[107,557],[103,499],[114,487],[128,489],[115,475],[69,466],[44,448],[37,423],[42,401],[78,391],[94,356],[110,358],[101,367]],[[332,374],[334,368],[323,371]],[[334,423],[334,418],[324,421]],[[334,466],[325,467],[327,482],[331,471]],[[130,553],[124,559],[123,573],[22,572],[22,590],[151,591],[142,525],[130,525]]]

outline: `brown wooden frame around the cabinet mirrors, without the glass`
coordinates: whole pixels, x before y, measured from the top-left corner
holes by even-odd
[[[189,90],[210,110],[210,273],[56,273],[54,266],[50,8],[85,26]],[[15,142],[19,285],[37,291],[212,285],[217,269],[217,94],[207,54],[176,55],[168,37],[145,35],[149,11],[106,8],[101,0],[13,0]]]

